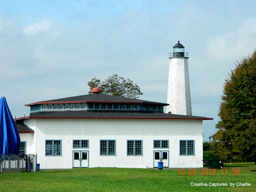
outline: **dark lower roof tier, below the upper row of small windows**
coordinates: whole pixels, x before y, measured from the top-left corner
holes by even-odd
[[[107,112],[107,111],[39,111],[30,113],[29,118],[174,118],[174,119],[202,119],[212,120],[212,118],[202,116],[190,116],[181,114],[168,114],[162,112]]]

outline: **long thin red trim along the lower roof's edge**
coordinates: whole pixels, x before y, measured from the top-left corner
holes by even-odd
[[[186,117],[38,117],[29,116],[28,118],[124,118],[124,119],[195,119],[195,120],[213,120],[213,118],[186,118]],[[21,119],[21,118],[20,118]],[[16,120],[16,119],[15,119]]]

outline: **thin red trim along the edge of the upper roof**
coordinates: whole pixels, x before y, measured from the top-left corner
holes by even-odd
[[[33,102],[33,103],[30,103],[30,104],[25,104],[25,106],[31,106],[31,105],[34,105],[34,104],[58,104],[58,103],[81,103],[81,102],[93,102],[93,103],[143,103],[143,104],[156,104],[156,105],[163,105],[163,106],[167,106],[169,104],[167,103],[154,103],[154,102],[143,102],[143,101],[137,101],[137,102],[132,102],[132,101],[129,101],[129,102],[124,102],[124,101],[57,101],[57,102]]]

